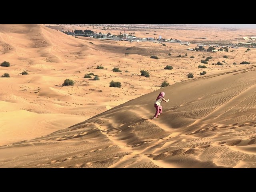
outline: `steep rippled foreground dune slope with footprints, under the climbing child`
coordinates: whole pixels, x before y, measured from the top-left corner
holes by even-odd
[[[170,102],[154,120],[159,90],[2,146],[0,167],[256,167],[255,73],[252,66],[162,88]]]

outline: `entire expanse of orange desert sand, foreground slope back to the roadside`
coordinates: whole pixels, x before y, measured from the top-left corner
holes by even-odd
[[[0,25],[0,63],[11,65],[0,67],[0,75],[10,74],[0,78],[0,167],[256,167],[256,50],[186,50],[195,47],[74,38],[40,24]],[[212,59],[201,64],[202,56]],[[223,60],[223,66],[212,65]],[[28,75],[21,75],[24,70]],[[83,78],[90,72],[100,80]],[[74,86],[62,86],[66,78]],[[111,80],[122,87],[109,87]],[[170,86],[160,88],[163,81]],[[160,91],[170,102],[152,120]]]

